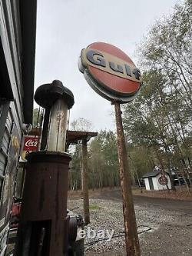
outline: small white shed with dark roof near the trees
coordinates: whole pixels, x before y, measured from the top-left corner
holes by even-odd
[[[148,172],[143,178],[146,190],[163,190],[167,189],[167,186],[170,188],[170,177],[167,172],[163,175],[161,170],[154,170]]]

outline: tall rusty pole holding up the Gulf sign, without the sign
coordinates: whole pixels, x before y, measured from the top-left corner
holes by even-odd
[[[140,256],[140,246],[137,234],[137,223],[134,212],[134,201],[131,191],[131,171],[127,161],[127,150],[124,140],[124,129],[121,118],[121,107],[114,102],[115,118],[118,136],[118,159],[121,180],[121,191],[124,211],[124,231],[127,256]]]

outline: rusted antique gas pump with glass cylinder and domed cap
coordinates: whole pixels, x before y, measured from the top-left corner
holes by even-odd
[[[41,85],[35,101],[45,108],[41,151],[28,154],[17,256],[63,256],[68,250],[68,109],[74,96],[61,81]]]

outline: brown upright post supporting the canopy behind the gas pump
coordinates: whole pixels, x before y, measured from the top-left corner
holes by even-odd
[[[89,197],[88,197],[88,145],[87,139],[82,139],[82,189],[84,198],[84,222],[90,223]]]

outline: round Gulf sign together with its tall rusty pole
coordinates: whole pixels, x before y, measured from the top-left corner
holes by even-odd
[[[114,102],[127,255],[140,256],[120,102],[133,101],[137,96],[142,85],[141,72],[121,49],[104,42],[82,49],[78,68],[98,95]]]

